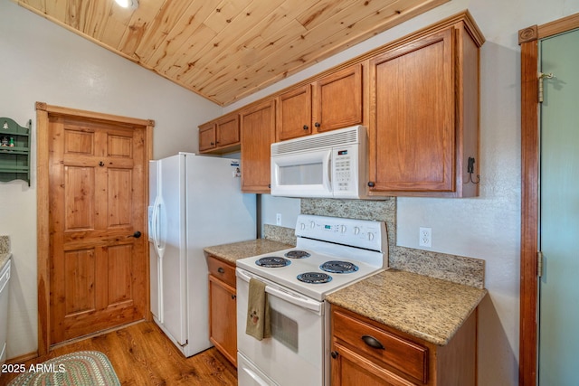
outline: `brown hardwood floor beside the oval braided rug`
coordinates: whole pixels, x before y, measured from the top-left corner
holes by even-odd
[[[122,385],[236,385],[237,370],[214,347],[185,358],[152,322],[141,322],[120,330],[55,348],[51,353],[24,362],[44,362],[55,356],[81,350],[105,353]],[[3,373],[0,385],[18,374]]]

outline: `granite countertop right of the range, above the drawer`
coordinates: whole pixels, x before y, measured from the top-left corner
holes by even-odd
[[[389,269],[326,299],[424,341],[444,345],[486,295],[484,288]]]

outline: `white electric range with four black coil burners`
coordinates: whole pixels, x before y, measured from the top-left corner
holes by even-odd
[[[238,384],[329,384],[327,294],[388,267],[383,221],[299,215],[296,248],[237,260]],[[245,334],[251,278],[266,284],[271,338]]]

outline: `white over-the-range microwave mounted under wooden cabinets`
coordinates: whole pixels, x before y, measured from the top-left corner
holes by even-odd
[[[368,198],[364,126],[271,144],[271,195]]]

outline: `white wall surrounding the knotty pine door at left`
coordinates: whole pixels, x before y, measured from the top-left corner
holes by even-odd
[[[0,1],[0,117],[24,126],[34,102],[154,119],[154,156],[197,150],[197,125],[223,108],[36,14]],[[35,152],[32,152],[35,167]],[[8,358],[37,349],[36,183],[0,184],[0,234],[14,257]]]

